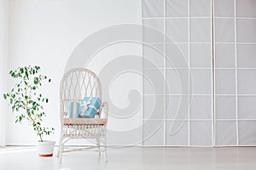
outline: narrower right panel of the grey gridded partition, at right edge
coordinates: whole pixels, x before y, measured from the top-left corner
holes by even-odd
[[[256,144],[256,2],[215,0],[216,145]]]

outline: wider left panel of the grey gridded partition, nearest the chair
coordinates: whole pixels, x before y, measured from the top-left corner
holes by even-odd
[[[211,5],[143,0],[143,145],[212,146]]]

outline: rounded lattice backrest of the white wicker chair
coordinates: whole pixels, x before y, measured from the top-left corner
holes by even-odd
[[[84,97],[98,97],[102,100],[102,85],[93,71],[75,68],[67,71],[61,79],[61,117],[67,115],[70,101],[82,101]]]

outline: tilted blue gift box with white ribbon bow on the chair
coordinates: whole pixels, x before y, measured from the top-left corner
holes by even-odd
[[[79,116],[83,118],[94,118],[101,107],[102,101],[96,97],[84,97],[79,108]]]

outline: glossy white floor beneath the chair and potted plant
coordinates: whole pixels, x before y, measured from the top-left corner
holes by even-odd
[[[55,151],[57,149],[55,148]],[[39,157],[35,147],[0,148],[0,169],[256,169],[256,148],[109,148],[108,162],[94,151],[65,153],[62,165],[56,156]]]

